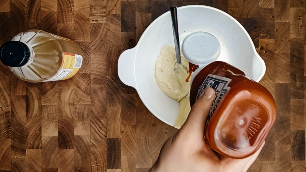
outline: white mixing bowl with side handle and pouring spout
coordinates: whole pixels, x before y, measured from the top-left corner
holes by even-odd
[[[208,32],[220,43],[217,61],[227,62],[259,81],[266,70],[252,39],[229,14],[209,6],[177,8],[180,43],[192,32]],[[162,14],[144,31],[136,47],[125,50],[118,60],[120,80],[134,87],[144,105],[161,121],[174,125],[179,103],[166,96],[155,80],[155,62],[163,46],[174,46],[170,11]]]

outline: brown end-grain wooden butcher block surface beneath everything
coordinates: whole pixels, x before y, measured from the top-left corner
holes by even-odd
[[[32,84],[0,65],[0,171],[147,171],[177,132],[121,83],[118,57],[170,6],[232,15],[267,71],[278,116],[249,172],[305,172],[305,0],[0,0],[0,44],[41,29],[75,40],[80,73]]]

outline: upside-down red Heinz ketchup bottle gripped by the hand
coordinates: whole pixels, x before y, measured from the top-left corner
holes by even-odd
[[[206,87],[216,92],[204,131],[210,147],[235,159],[255,153],[276,118],[271,93],[226,62],[212,62],[195,76],[190,89],[191,107]]]

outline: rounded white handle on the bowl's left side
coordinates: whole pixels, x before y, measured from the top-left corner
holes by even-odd
[[[120,80],[124,84],[134,88],[136,87],[134,73],[135,55],[136,48],[134,47],[132,49],[123,51],[118,59],[118,76]]]

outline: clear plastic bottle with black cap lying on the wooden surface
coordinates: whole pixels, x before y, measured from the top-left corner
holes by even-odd
[[[19,33],[0,48],[0,60],[28,82],[66,80],[83,63],[83,52],[74,41],[41,30]]]

